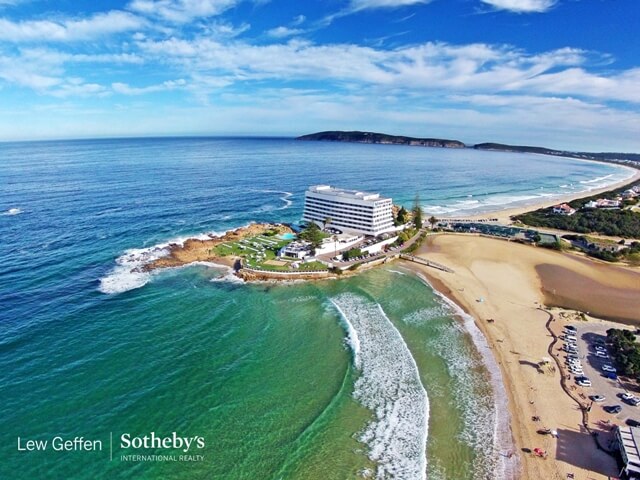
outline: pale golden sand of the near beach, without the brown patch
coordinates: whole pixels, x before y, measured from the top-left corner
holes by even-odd
[[[547,371],[541,374],[538,369],[532,368],[549,355],[552,338],[547,325],[550,318],[578,318],[573,310],[546,307],[544,288],[549,279],[540,276],[535,266],[559,265],[567,269],[565,281],[590,276],[593,281],[600,282],[602,288],[620,288],[631,282],[635,285],[638,298],[630,306],[631,309],[640,309],[640,272],[546,249],[470,235],[428,237],[416,254],[453,270],[453,273],[447,273],[403,262],[405,268],[420,277],[426,277],[433,289],[474,319],[500,366],[508,398],[515,452],[521,459],[519,478],[566,478],[569,473],[583,471],[584,478],[604,479],[606,475],[615,474],[610,457],[598,452],[590,436],[582,433],[581,412],[561,389],[559,374]],[[606,280],[603,280],[605,271]],[[582,285],[579,288],[589,286]],[[591,301],[604,300],[593,298]],[[606,313],[606,310],[602,311]],[[563,312],[562,315],[560,312]],[[640,318],[637,322],[640,323]],[[556,448],[559,448],[553,440],[537,434],[536,430],[541,425],[531,422],[533,417],[541,417],[545,427],[561,428],[568,432],[567,435],[575,435],[577,440],[571,447],[572,455],[577,458],[590,455],[590,463],[572,465],[566,458],[541,461],[523,453],[523,448],[532,450],[540,447],[550,452],[553,458]],[[586,477],[587,472],[590,477]]]

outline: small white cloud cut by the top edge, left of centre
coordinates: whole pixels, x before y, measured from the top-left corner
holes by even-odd
[[[173,23],[220,15],[241,0],[133,0],[129,9]]]

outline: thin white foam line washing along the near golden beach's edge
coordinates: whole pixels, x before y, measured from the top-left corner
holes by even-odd
[[[492,477],[496,480],[513,480],[518,478],[519,462],[517,455],[512,455],[515,451],[513,443],[513,436],[510,426],[510,414],[509,406],[507,403],[507,392],[504,387],[504,381],[500,373],[500,367],[496,361],[487,339],[482,334],[474,318],[467,314],[457,303],[452,301],[446,295],[443,295],[438,290],[433,288],[427,278],[418,273],[418,278],[427,285],[433,292],[440,298],[440,300],[448,305],[451,310],[462,320],[462,327],[469,334],[473,344],[475,345],[478,353],[480,354],[482,361],[487,368],[489,378],[491,380],[491,387],[494,397],[494,409],[496,415],[494,416],[495,422],[493,425],[493,438],[492,447],[493,451],[497,453],[497,468],[495,472],[492,472]]]

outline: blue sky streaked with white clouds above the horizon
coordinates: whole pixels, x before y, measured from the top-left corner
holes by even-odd
[[[0,141],[322,130],[640,152],[638,0],[0,0]]]

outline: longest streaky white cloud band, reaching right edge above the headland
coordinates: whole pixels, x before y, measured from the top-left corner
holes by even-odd
[[[352,44],[221,43],[209,38],[143,41],[144,55],[187,72],[244,83],[306,80],[327,88],[345,82],[407,92],[536,92],[640,102],[638,73],[586,70],[588,52],[562,48],[530,55],[509,46],[425,43],[392,50]]]

